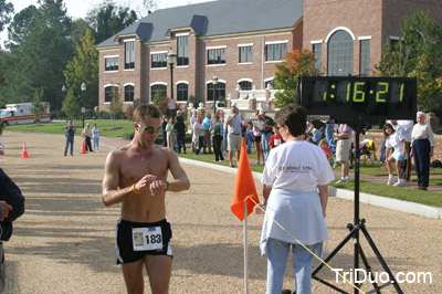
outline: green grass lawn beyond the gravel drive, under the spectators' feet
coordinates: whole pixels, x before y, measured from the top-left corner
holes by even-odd
[[[122,137],[122,136],[127,136],[128,134],[134,133],[134,126],[133,126],[131,122],[129,122],[129,120],[115,120],[114,122],[112,119],[97,119],[97,120],[86,119],[85,124],[86,123],[90,123],[91,127],[94,124],[97,124],[98,128],[101,129],[101,136],[103,136],[103,137]],[[48,124],[41,124],[39,126],[36,126],[36,125],[20,125],[20,126],[8,126],[8,127],[6,127],[6,130],[44,133],[44,134],[64,134],[64,127],[66,125],[67,125],[67,123],[65,123],[65,122],[48,123]],[[74,125],[76,125],[76,127],[81,129],[82,120],[75,120]],[[80,135],[80,129],[77,130],[78,135]],[[201,154],[201,155],[197,156],[193,153],[191,153],[190,150],[188,150],[188,153],[186,155],[181,153],[179,156],[182,158],[200,160],[200,161],[215,164],[215,165],[220,165],[220,166],[229,166],[228,157],[224,158],[225,159],[224,161],[214,162],[213,154],[208,154],[208,155]],[[254,149],[252,149],[252,154],[249,155],[249,158],[251,161],[252,170],[256,171],[256,172],[262,172],[264,169],[264,166],[254,164],[256,161],[256,154],[255,154]],[[334,169],[339,170],[340,168],[337,167]],[[354,169],[351,169],[350,171],[354,171]],[[430,174],[431,175],[442,175],[442,169],[432,168],[430,170]],[[385,164],[373,162],[373,165],[371,165],[371,162],[367,161],[366,165],[364,165],[364,160],[361,160],[360,175],[388,176],[388,171],[387,171]],[[442,178],[431,178],[430,177],[430,185],[442,185]],[[348,190],[354,190],[354,188],[355,188],[352,180],[349,183],[339,183],[339,185],[332,182],[330,186],[337,187],[337,188],[343,188],[343,189],[348,189]],[[420,190],[414,190],[414,189],[403,189],[400,187],[386,186],[386,185],[368,182],[368,181],[360,182],[360,191],[366,192],[366,193],[371,193],[371,195],[378,195],[378,196],[383,196],[383,197],[389,197],[389,198],[394,198],[394,199],[407,200],[407,201],[411,201],[411,202],[434,206],[434,207],[442,207],[442,195],[438,193],[438,192],[420,191]]]

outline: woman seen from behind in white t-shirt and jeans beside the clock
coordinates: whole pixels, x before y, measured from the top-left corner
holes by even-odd
[[[265,217],[261,253],[267,253],[267,294],[281,293],[292,249],[296,293],[312,292],[312,261],[328,240],[325,213],[332,167],[323,150],[304,139],[307,112],[290,104],[275,115],[285,144],[271,150],[263,171]],[[285,230],[280,228],[280,223]]]

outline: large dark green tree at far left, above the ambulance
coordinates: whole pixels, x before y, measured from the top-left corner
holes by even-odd
[[[9,30],[8,54],[1,55],[6,83],[0,104],[31,102],[35,90],[43,88],[44,101],[56,111],[62,106],[63,70],[73,56],[71,19],[63,0],[41,0],[15,14]]]

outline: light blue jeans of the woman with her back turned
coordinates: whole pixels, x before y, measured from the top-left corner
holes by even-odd
[[[319,255],[323,243],[307,245],[315,254]],[[267,252],[267,292],[266,294],[281,294],[283,290],[285,265],[290,250],[293,252],[293,267],[296,280],[296,294],[312,293],[312,261],[314,256],[302,245],[287,243],[276,239],[269,239]],[[293,291],[293,290],[292,290]]]

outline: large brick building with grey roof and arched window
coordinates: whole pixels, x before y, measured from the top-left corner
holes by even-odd
[[[403,15],[418,10],[442,23],[440,0],[220,0],[157,10],[97,45],[98,106],[108,109],[114,88],[126,105],[172,90],[182,104],[193,95],[212,107],[214,95],[273,108],[274,65],[287,51],[312,50],[326,75],[368,75],[385,42],[400,38]]]

